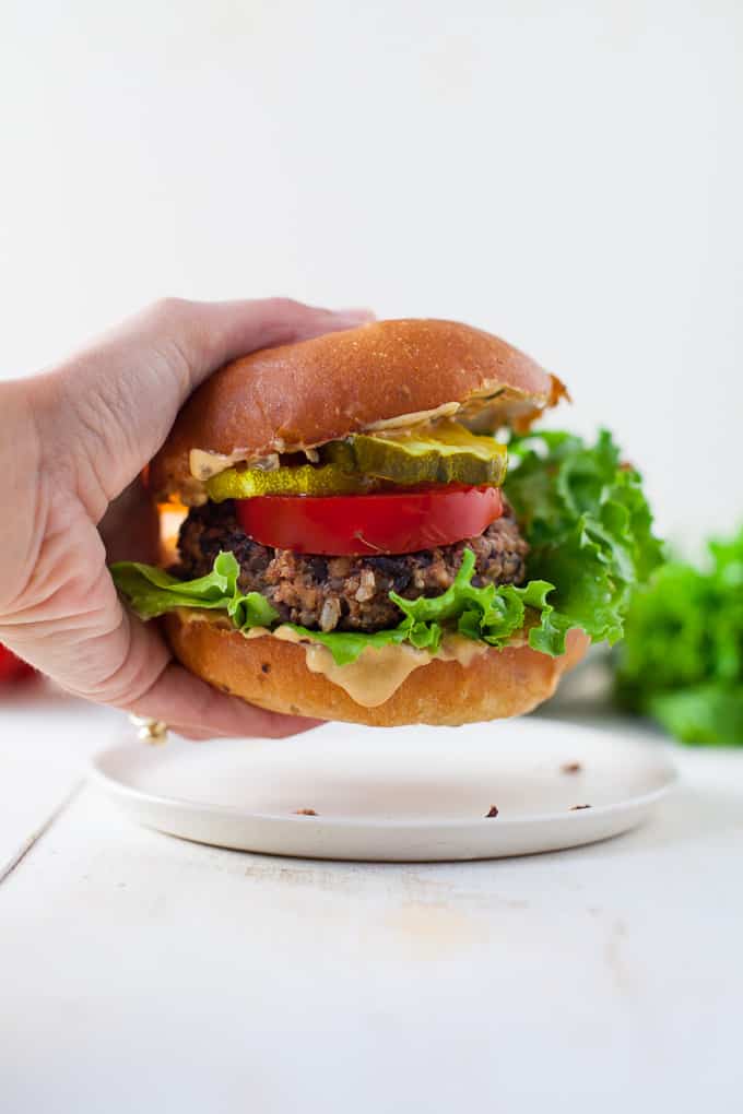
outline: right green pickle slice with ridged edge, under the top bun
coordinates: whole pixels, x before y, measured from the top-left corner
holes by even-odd
[[[359,433],[345,442],[358,471],[393,483],[488,483],[506,478],[508,452],[491,437],[478,437],[456,421],[434,429],[390,434]]]

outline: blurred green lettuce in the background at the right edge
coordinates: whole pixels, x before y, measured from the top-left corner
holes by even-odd
[[[634,592],[616,694],[682,742],[743,745],[743,528],[708,553]]]

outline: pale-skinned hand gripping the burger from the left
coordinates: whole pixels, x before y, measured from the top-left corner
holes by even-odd
[[[0,383],[0,642],[68,692],[192,739],[312,726],[187,673],[158,626],[124,608],[107,561],[153,559],[156,524],[139,473],[201,382],[255,349],[370,316],[285,299],[167,299],[53,370]]]

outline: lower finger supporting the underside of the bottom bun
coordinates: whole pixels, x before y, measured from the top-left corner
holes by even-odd
[[[225,696],[175,663],[168,665],[151,688],[126,710],[162,720],[178,734],[197,739],[285,739],[310,731],[322,722],[267,712],[236,696]]]

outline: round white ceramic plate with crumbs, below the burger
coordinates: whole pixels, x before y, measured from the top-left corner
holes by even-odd
[[[659,746],[534,719],[388,731],[329,724],[284,741],[170,737],[159,747],[129,739],[94,760],[94,775],[135,820],[173,836],[378,861],[590,843],[641,823],[675,780]],[[493,805],[497,817],[487,818]]]

